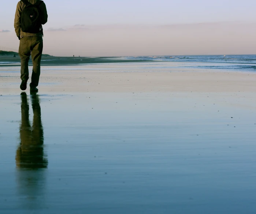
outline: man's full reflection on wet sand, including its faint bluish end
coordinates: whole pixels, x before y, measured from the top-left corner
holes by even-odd
[[[48,166],[44,155],[44,131],[41,122],[40,100],[36,93],[31,93],[33,124],[29,121],[29,103],[27,94],[21,93],[20,144],[16,151],[18,192],[22,206],[38,209],[44,194],[45,168]]]

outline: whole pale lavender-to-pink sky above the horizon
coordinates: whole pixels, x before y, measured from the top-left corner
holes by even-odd
[[[44,0],[55,56],[256,54],[255,0]],[[17,0],[1,2],[0,46],[18,49]]]

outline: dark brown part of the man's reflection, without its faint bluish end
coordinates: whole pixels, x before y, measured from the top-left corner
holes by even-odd
[[[31,94],[33,108],[33,125],[29,121],[29,104],[26,93],[21,93],[21,144],[16,153],[16,166],[25,169],[47,168],[44,157],[44,131],[41,122],[41,108],[36,93]]]

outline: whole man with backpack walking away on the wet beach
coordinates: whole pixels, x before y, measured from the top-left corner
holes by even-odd
[[[47,22],[47,10],[41,0],[21,0],[17,4],[14,28],[19,43],[19,56],[21,57],[21,90],[27,89],[29,79],[29,58],[33,61],[30,91],[38,91],[40,77],[40,63],[43,49],[42,25]]]

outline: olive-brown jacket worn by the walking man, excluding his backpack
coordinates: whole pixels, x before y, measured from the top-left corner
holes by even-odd
[[[39,0],[28,0],[28,1],[31,4],[35,4]],[[18,37],[19,36],[20,37],[42,36],[42,31],[40,31],[39,33],[25,33],[25,32],[22,32],[22,30],[21,30],[21,11],[23,10],[24,7],[25,7],[25,4],[22,1],[19,1],[18,4],[17,4],[15,19],[14,19],[14,28],[15,28],[16,35]],[[41,24],[44,25],[45,23],[47,23],[47,18],[48,18],[45,3],[42,2],[39,5],[39,8],[42,12]]]

